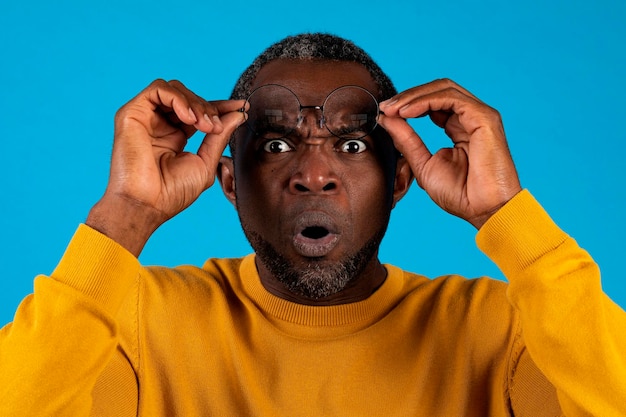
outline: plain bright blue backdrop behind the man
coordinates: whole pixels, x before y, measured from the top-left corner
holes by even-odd
[[[258,53],[303,31],[354,40],[400,90],[449,77],[497,108],[522,184],[594,256],[605,291],[626,306],[625,4],[2,0],[0,325],[101,196],[121,105],[154,78],[225,98]],[[415,126],[431,148],[447,146],[427,121]],[[414,186],[381,258],[428,276],[502,279],[474,236]],[[249,251],[214,187],[159,229],[141,260],[202,264]]]

